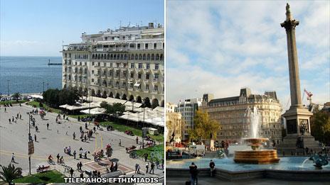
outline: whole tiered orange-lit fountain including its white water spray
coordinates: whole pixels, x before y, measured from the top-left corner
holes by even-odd
[[[236,163],[248,163],[248,164],[271,164],[277,163],[280,159],[277,157],[277,150],[263,150],[260,149],[263,142],[269,141],[268,138],[258,138],[260,128],[260,113],[256,107],[248,108],[246,116],[250,117],[250,137],[243,138],[245,143],[249,143],[252,150],[235,151],[234,161]]]

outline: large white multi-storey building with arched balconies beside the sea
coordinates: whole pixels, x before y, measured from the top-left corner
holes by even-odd
[[[164,28],[149,23],[81,38],[63,45],[63,88],[164,106]]]

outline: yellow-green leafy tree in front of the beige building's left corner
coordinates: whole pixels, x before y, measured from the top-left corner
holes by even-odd
[[[220,124],[216,120],[211,120],[206,111],[198,110],[193,117],[193,129],[188,130],[189,140],[208,140],[211,135],[212,139],[215,139],[218,130]]]

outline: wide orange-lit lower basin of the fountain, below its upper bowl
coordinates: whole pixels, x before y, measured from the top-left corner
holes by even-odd
[[[280,159],[276,150],[247,150],[235,151],[234,161],[245,164],[272,164],[279,162]]]

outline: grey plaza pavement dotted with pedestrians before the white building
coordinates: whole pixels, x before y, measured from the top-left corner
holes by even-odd
[[[4,106],[0,108],[0,164],[8,165],[11,162],[11,154],[14,152],[16,167],[23,169],[23,175],[28,174],[28,114],[34,108],[22,104],[22,106],[7,107],[4,112]],[[16,116],[17,113],[21,113],[22,119],[18,119],[17,123],[9,124],[9,118]],[[55,123],[56,113],[46,113],[44,120],[39,115],[33,115],[36,119],[36,125],[38,125],[39,132],[36,133],[35,128],[31,128],[31,136],[34,139],[34,135],[37,136],[37,142],[34,142],[34,154],[31,155],[31,174],[36,173],[36,169],[39,165],[49,165],[47,160],[48,156],[52,155],[56,161],[56,155],[59,153],[63,156],[65,165],[73,167],[75,169],[74,176],[79,176],[80,172],[76,171],[76,164],[82,162],[82,171],[94,170],[97,164],[93,162],[92,153],[95,150],[100,150],[107,144],[112,145],[112,157],[114,161],[118,161],[119,167],[126,173],[126,176],[157,176],[164,178],[162,169],[155,169],[154,174],[145,174],[146,162],[139,159],[132,159],[129,154],[126,153],[125,147],[136,145],[136,136],[126,135],[120,133],[117,130],[107,131],[97,130],[95,138],[91,138],[90,141],[82,142],[78,140],[80,138],[79,127],[85,130],[85,123],[78,122],[75,118],[69,118],[69,120],[60,120],[61,124]],[[49,130],[47,130],[46,124],[49,123]],[[94,125],[92,123],[88,126],[88,129],[92,129]],[[73,132],[75,132],[76,140],[73,140]],[[68,133],[68,135],[67,135]],[[122,140],[122,147],[118,146],[119,139]],[[142,138],[139,137],[139,141]],[[75,150],[77,152],[77,159],[73,159],[73,156],[64,153],[64,147],[71,147],[71,153]],[[83,151],[90,151],[87,155],[88,159],[79,159],[79,149],[82,147]],[[138,146],[139,147],[139,146]],[[139,164],[141,174],[134,174],[135,164]],[[59,164],[50,165],[52,169],[57,169],[59,172],[63,172],[63,166]],[[93,169],[93,167],[95,167]],[[104,169],[105,167],[103,167]],[[65,176],[69,176],[65,173]],[[86,176],[86,174],[84,174]]]

